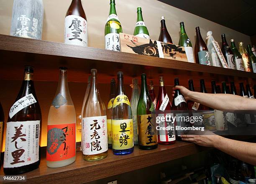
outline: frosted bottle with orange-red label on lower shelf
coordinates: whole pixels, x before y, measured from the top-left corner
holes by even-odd
[[[69,94],[67,68],[59,69],[59,84],[47,125],[46,164],[51,168],[67,166],[76,159],[76,112]]]

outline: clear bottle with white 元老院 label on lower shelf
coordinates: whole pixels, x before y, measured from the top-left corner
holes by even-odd
[[[82,152],[86,161],[108,155],[107,115],[97,88],[97,69],[91,69],[91,86],[82,114]]]

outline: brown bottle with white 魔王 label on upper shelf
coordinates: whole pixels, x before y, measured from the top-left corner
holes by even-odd
[[[64,43],[87,46],[87,19],[81,0],[72,0],[65,18]]]

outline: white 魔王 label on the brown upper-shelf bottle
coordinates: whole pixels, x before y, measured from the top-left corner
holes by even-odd
[[[65,18],[65,43],[87,46],[87,21],[77,15]]]

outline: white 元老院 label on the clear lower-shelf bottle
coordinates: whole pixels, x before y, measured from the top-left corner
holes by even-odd
[[[107,116],[83,118],[83,154],[95,155],[108,150]],[[107,124],[108,126],[108,124]]]

